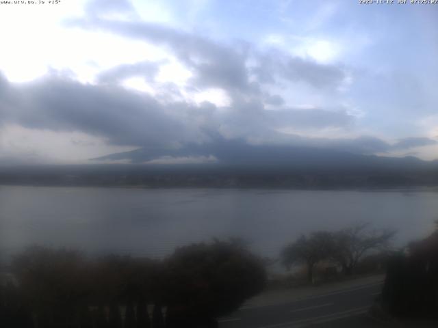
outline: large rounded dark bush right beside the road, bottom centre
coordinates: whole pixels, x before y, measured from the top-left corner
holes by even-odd
[[[171,327],[211,327],[211,318],[237,310],[266,284],[262,261],[235,243],[181,247],[166,271]]]

